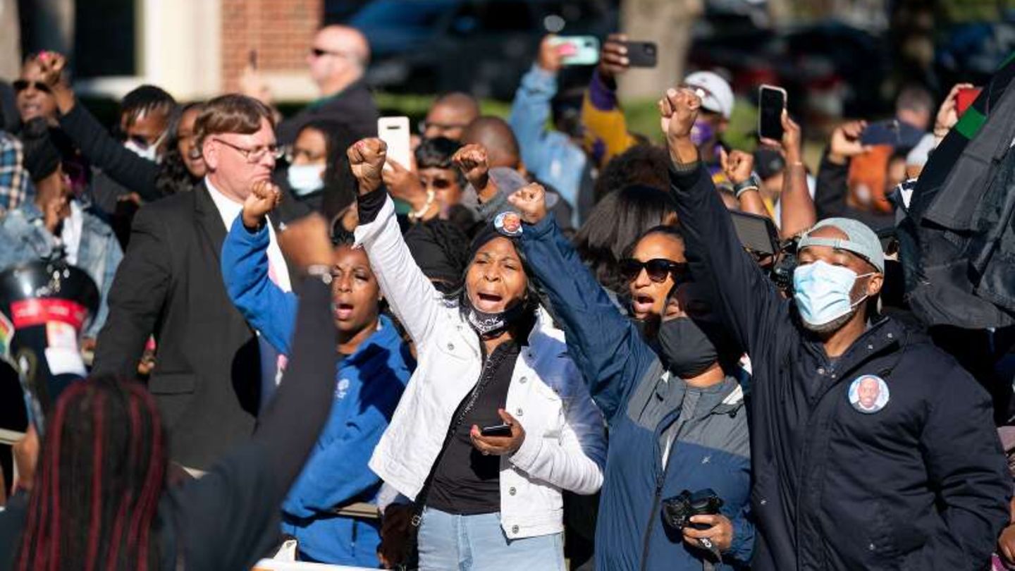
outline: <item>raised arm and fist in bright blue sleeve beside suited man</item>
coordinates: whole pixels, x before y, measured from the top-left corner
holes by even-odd
[[[254,185],[222,243],[221,269],[225,291],[248,323],[279,353],[288,355],[296,315],[296,297],[283,292],[268,276],[270,236],[266,215],[281,200],[270,181]]]

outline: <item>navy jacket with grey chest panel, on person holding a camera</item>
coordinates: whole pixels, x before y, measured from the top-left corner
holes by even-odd
[[[693,389],[671,376],[560,234],[552,216],[526,226],[522,245],[566,334],[567,353],[610,428],[596,527],[596,567],[610,571],[700,571],[704,552],[662,521],[661,501],[714,489],[733,522],[726,563],[747,562],[750,450],[743,391],[727,378]],[[686,409],[688,415],[681,415]],[[664,432],[677,425],[668,461]],[[718,565],[717,569],[729,569]]]

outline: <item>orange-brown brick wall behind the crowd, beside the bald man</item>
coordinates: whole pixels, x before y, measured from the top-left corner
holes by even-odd
[[[221,0],[222,86],[234,91],[251,50],[270,72],[306,72],[323,0]]]

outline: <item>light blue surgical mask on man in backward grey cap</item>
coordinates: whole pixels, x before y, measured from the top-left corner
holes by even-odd
[[[850,292],[857,278],[873,275],[857,275],[848,267],[834,266],[816,261],[797,266],[793,272],[793,299],[797,302],[800,318],[804,323],[820,327],[848,315],[867,296],[856,302],[850,300]]]

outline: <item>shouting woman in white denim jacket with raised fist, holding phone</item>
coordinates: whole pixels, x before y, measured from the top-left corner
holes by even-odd
[[[419,568],[562,570],[560,491],[599,490],[604,424],[528,287],[511,239],[517,214],[479,233],[464,289],[448,298],[402,239],[381,187],[384,142],[364,139],[348,154],[359,181],[356,243],[419,358],[369,462],[425,506]],[[498,424],[510,436],[481,435]]]

